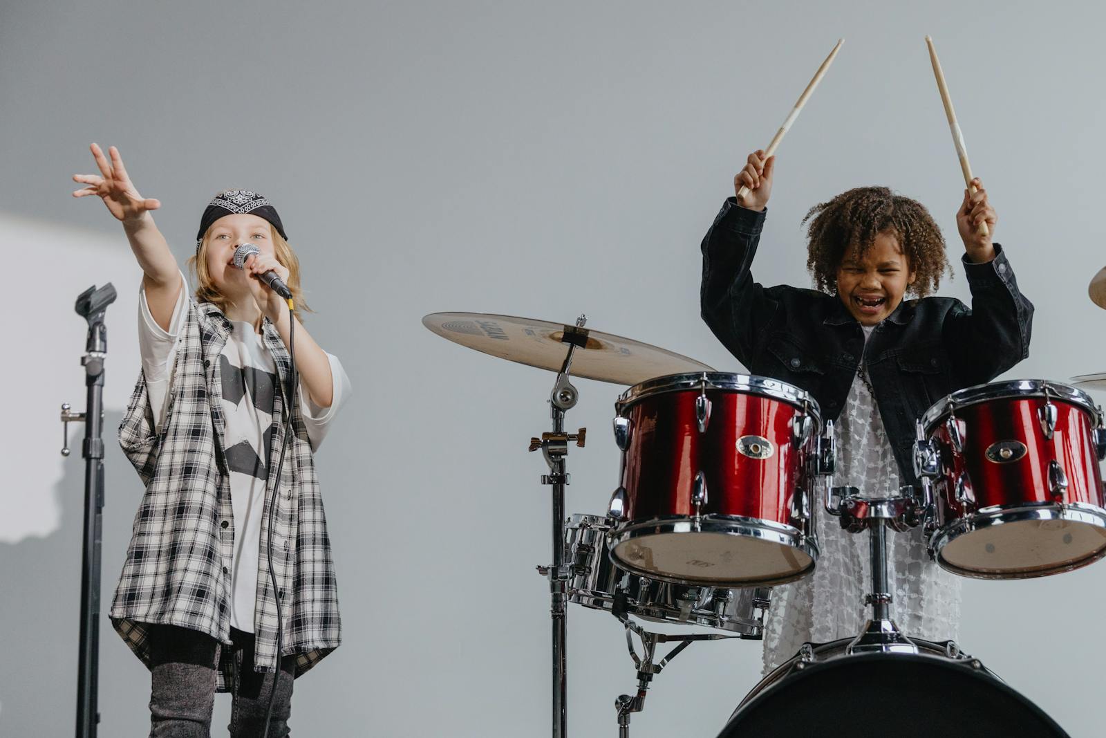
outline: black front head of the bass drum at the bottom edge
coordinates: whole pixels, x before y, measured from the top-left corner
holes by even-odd
[[[963,662],[864,654],[792,672],[738,710],[719,734],[719,738],[747,736],[1063,738],[1067,734],[1033,703]]]

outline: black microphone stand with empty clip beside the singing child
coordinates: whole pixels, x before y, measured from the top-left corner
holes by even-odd
[[[104,313],[115,302],[111,282],[90,287],[76,298],[76,314],[88,322],[84,366],[87,388],[84,413],[71,413],[62,403],[62,456],[70,455],[69,424],[84,423],[84,551],[81,560],[81,645],[77,656],[76,737],[95,738],[100,723],[97,693],[100,677],[100,571],[104,511],[104,358],[107,328]]]

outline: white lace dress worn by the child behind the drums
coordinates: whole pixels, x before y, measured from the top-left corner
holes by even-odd
[[[872,328],[864,329],[867,341]],[[866,383],[854,380],[836,426],[837,468],[834,485],[857,487],[862,495],[895,493],[898,466],[875,397]],[[820,488],[821,489],[821,488]],[[814,573],[772,589],[764,627],[764,674],[787,661],[807,641],[826,643],[852,637],[867,622],[870,607],[868,533],[849,533],[838,519],[817,510],[821,555]],[[927,641],[956,640],[960,623],[960,579],[930,561],[921,528],[888,530],[888,581],[891,619],[906,635]]]

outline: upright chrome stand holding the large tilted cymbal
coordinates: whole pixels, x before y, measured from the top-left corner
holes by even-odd
[[[564,335],[561,336],[561,342],[568,344],[568,352],[550,393],[553,433],[543,433],[541,438],[530,439],[530,450],[542,449],[542,456],[550,467],[550,474],[542,475],[542,484],[553,487],[553,563],[538,567],[538,572],[550,581],[550,617],[553,622],[553,738],[565,738],[568,735],[565,603],[572,568],[565,563],[564,550],[564,488],[570,481],[565,471],[565,457],[568,455],[568,441],[576,441],[576,446],[584,447],[587,429],[565,434],[564,416],[575,407],[580,398],[576,387],[570,381],[570,374],[573,353],[577,347],[587,346],[587,331],[584,330],[586,322],[587,316],[581,315],[576,319],[575,326],[565,326]]]

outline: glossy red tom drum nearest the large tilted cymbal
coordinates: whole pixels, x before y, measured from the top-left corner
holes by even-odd
[[[814,568],[817,403],[743,374],[649,380],[615,405],[615,562],[677,584],[789,582]]]

